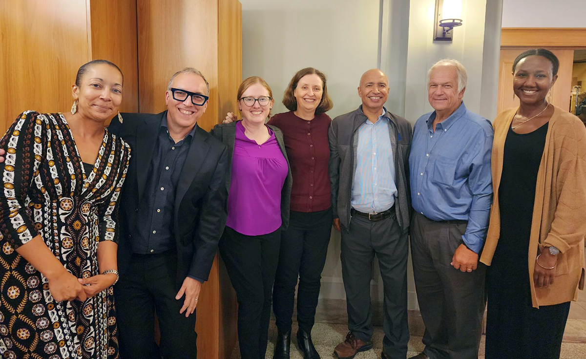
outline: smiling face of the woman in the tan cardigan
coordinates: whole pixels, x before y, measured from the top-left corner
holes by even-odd
[[[513,73],[513,92],[522,104],[543,103],[557,80],[557,74],[553,76],[552,73],[553,65],[546,57],[524,57],[517,63]]]

